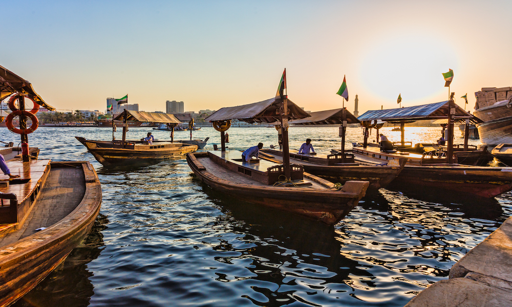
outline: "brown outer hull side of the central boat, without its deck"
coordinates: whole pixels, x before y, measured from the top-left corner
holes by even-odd
[[[236,183],[217,176],[204,167],[201,159],[208,159],[208,152],[187,154],[187,163],[197,178],[211,188],[234,196],[237,199],[262,206],[272,207],[294,214],[314,218],[333,225],[347,215],[365,195],[368,182],[347,182],[342,190],[312,189],[308,187],[274,187]],[[229,170],[225,170],[226,173]],[[229,174],[224,174],[229,178]],[[317,182],[322,179],[305,173]],[[333,186],[326,182],[327,186]]]

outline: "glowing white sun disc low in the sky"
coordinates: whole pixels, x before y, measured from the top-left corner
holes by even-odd
[[[359,81],[381,102],[398,94],[405,106],[437,102],[432,99],[447,93],[441,73],[458,68],[455,51],[442,39],[409,34],[371,46],[362,54]]]

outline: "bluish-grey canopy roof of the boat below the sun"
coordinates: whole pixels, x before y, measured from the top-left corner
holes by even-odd
[[[412,123],[417,120],[447,118],[449,101],[408,106],[386,110],[367,111],[357,119],[360,121],[382,120],[390,123]],[[455,104],[455,119],[473,116]]]

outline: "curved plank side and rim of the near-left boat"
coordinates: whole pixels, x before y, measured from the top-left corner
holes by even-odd
[[[64,261],[90,232],[99,213],[101,187],[89,162],[52,162],[51,167],[81,167],[85,177],[85,192],[76,208],[56,224],[15,243],[0,246],[2,307],[21,298]],[[38,206],[46,197],[53,197],[50,194],[55,188],[45,190],[46,182],[48,180],[40,192],[34,195],[34,206]]]

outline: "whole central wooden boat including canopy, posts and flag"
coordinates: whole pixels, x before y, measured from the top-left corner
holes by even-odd
[[[201,181],[214,189],[247,202],[301,214],[332,225],[357,205],[369,182],[348,181],[338,189],[333,183],[305,173],[302,166],[290,164],[288,121],[310,115],[283,94],[286,87],[283,80],[286,80],[285,74],[275,98],[223,107],[207,117],[206,120],[221,133],[221,151],[188,153],[187,163]],[[280,121],[283,164],[263,160],[242,162],[240,151],[226,151],[224,132],[230,127],[231,120],[247,123]]]

